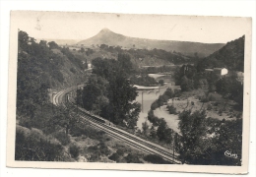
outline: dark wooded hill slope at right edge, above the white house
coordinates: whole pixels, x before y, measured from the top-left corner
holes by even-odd
[[[225,67],[228,70],[241,71],[244,68],[244,35],[227,42],[224,47],[200,62],[204,68]]]

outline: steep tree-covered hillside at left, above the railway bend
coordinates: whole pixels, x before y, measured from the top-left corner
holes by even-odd
[[[48,46],[49,45],[49,46]],[[17,108],[49,102],[52,89],[64,89],[85,81],[82,61],[55,42],[34,38],[19,31]],[[50,90],[50,92],[49,92]]]

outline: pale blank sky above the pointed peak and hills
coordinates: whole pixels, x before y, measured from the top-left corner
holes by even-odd
[[[196,16],[124,15],[61,12],[12,12],[13,28],[25,30],[34,38],[83,40],[100,29],[127,36],[225,43],[242,36],[243,18]]]

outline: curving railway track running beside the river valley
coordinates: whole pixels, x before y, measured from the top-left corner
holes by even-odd
[[[153,144],[149,141],[143,140],[135,135],[132,135],[128,132],[118,129],[114,127],[114,125],[108,122],[107,120],[104,120],[90,113],[89,111],[74,105],[74,103],[70,101],[69,96],[67,96],[74,90],[76,90],[76,87],[59,91],[54,95],[53,103],[57,106],[64,106],[65,108],[72,110],[73,113],[76,113],[82,125],[83,123],[88,121],[90,122],[90,125],[92,127],[95,127],[96,129],[104,131],[109,136],[115,139],[124,141],[126,144],[130,145],[131,147],[141,149],[147,153],[157,154],[163,159],[171,163],[175,163],[175,164],[181,163],[177,158],[177,154],[174,153],[173,155],[172,150],[167,148],[162,148],[159,145]]]

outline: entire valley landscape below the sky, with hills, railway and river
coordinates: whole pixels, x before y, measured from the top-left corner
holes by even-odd
[[[74,44],[20,31],[16,159],[240,165],[221,154],[241,157],[243,41],[102,29]]]

